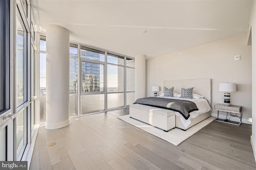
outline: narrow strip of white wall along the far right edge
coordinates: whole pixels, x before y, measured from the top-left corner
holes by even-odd
[[[255,31],[256,31],[256,3],[255,0],[252,3],[250,21],[249,21],[249,30],[251,28],[252,33],[252,136],[251,143],[252,149],[254,151],[254,158],[256,160],[256,40],[255,40]],[[249,32],[249,31],[248,31]]]

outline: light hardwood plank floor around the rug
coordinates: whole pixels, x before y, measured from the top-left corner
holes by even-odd
[[[54,130],[40,125],[30,169],[256,169],[251,125],[213,121],[174,146],[117,118],[128,112],[73,118]],[[48,147],[52,142],[56,145]]]

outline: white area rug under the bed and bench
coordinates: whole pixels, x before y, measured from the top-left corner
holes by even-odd
[[[204,121],[201,121],[200,123],[197,123],[196,125],[190,127],[186,131],[183,131],[178,128],[174,128],[169,130],[168,132],[163,131],[162,129],[156,128],[154,126],[148,125],[147,123],[143,123],[142,121],[138,121],[136,119],[130,118],[129,115],[124,115],[118,117],[119,119],[126,121],[127,123],[130,123],[131,125],[134,125],[156,137],[159,137],[175,146],[178,146],[180,143],[188,139],[190,136],[192,136],[194,133],[211,123],[215,118],[214,117],[208,117]]]

